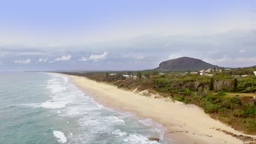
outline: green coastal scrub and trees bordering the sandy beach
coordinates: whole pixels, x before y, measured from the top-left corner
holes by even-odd
[[[246,70],[235,71],[244,73]],[[138,91],[150,89],[162,94],[163,97],[202,107],[212,118],[219,119],[247,134],[256,134],[256,100],[252,97],[256,92],[256,76],[232,76],[232,70],[216,72],[213,77],[179,73],[159,75],[156,71],[134,71],[129,74],[134,73],[137,78],[126,79],[123,74],[127,72],[115,73],[117,75],[104,72],[65,74],[109,82],[118,88],[137,88]]]

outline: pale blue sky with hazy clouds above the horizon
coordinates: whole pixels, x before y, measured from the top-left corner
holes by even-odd
[[[256,65],[256,0],[1,1],[0,71]]]

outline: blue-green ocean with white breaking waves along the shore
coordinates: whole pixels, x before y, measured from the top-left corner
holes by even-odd
[[[0,73],[0,131],[0,143],[176,143],[163,125],[100,105],[53,73]]]

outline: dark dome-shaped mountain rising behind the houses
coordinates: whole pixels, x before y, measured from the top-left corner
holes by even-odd
[[[161,62],[156,70],[164,71],[195,71],[195,70],[207,70],[213,69],[214,67],[220,68],[217,65],[203,62],[201,59],[191,57],[180,57],[171,59],[168,61]]]

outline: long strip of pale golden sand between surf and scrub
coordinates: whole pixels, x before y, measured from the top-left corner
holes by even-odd
[[[243,143],[217,128],[237,135],[245,135],[216,121],[200,107],[185,105],[178,101],[165,101],[146,97],[136,92],[119,89],[107,83],[96,82],[86,77],[68,76],[78,87],[93,95],[103,105],[136,113],[138,117],[152,118],[167,127],[165,136],[179,143]]]

